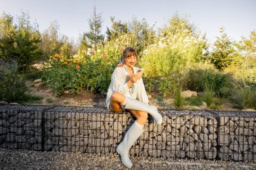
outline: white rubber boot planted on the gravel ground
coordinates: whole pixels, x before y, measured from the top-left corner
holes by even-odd
[[[126,132],[123,141],[117,146],[117,153],[121,156],[123,164],[129,168],[133,166],[133,163],[129,158],[129,150],[143,132],[144,130],[139,127],[139,123],[135,121],[131,128]]]

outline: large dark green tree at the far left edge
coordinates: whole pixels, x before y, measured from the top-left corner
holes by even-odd
[[[12,17],[3,13],[1,17],[0,54],[1,58],[18,61],[20,69],[25,69],[33,60],[40,58],[40,32],[38,26],[32,26],[28,13],[18,17],[18,24],[13,24]],[[7,30],[6,28],[10,28]]]

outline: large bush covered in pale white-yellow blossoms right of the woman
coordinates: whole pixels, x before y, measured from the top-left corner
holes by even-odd
[[[175,24],[178,22],[179,24]],[[199,62],[207,53],[207,44],[187,20],[173,17],[170,24],[160,30],[155,43],[141,55],[141,65],[149,77],[181,72],[193,62]]]

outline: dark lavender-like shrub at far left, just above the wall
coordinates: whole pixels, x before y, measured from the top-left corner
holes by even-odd
[[[18,62],[0,60],[0,100],[7,102],[25,102],[40,100],[40,97],[28,95],[25,80],[18,73]]]

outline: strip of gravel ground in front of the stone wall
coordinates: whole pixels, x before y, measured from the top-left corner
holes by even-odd
[[[256,169],[256,162],[131,157],[132,169]],[[40,152],[0,148],[0,169],[127,169],[117,154]]]

